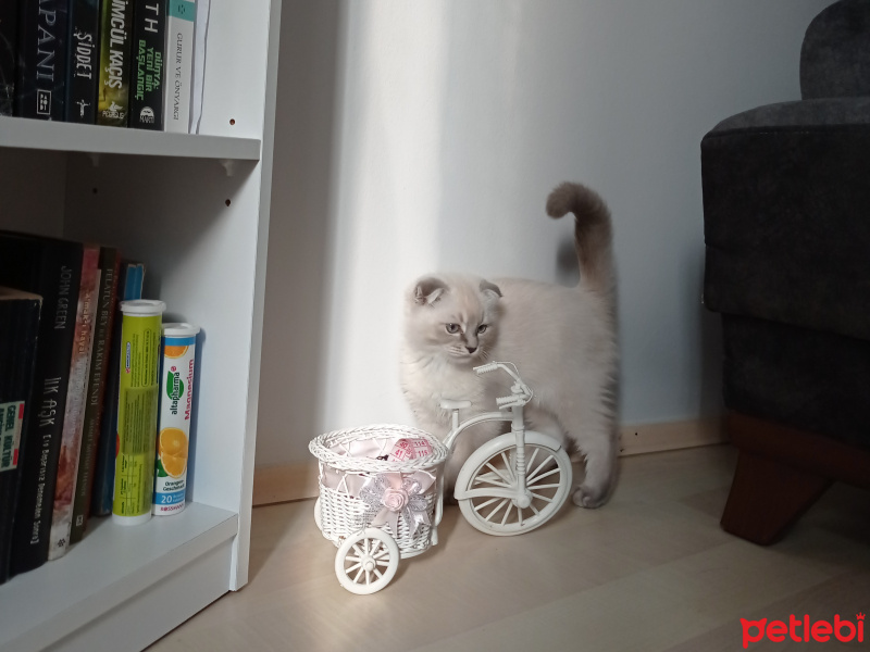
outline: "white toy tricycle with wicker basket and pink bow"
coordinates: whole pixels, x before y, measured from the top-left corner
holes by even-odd
[[[564,504],[572,482],[568,453],[555,438],[526,429],[523,409],[533,392],[513,364],[490,362],[474,368],[478,375],[496,369],[513,379],[510,396],[496,399],[497,412],[462,422],[460,411],[472,403],[443,401],[452,425],[444,442],[393,425],[336,430],[311,441],[309,449],[320,461],[314,519],[338,547],[335,572],[350,592],[383,589],[400,557],[438,542],[444,513],[440,467],[472,426],[511,424],[510,432],[476,449],[457,476],[453,497],[472,526],[489,535],[520,535],[544,525]],[[414,447],[417,455],[409,453]]]

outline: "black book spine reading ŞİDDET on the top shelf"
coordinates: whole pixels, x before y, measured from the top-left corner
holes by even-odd
[[[70,0],[66,122],[92,125],[97,120],[99,36],[99,0]]]

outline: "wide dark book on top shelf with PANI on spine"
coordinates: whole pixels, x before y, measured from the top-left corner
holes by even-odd
[[[66,116],[66,18],[67,0],[20,0],[15,115]]]

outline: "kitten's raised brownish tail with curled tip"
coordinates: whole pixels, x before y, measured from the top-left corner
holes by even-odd
[[[547,214],[561,217],[573,213],[574,247],[580,260],[580,285],[609,293],[616,284],[613,269],[613,227],[610,211],[600,196],[581,184],[564,183],[547,198]]]

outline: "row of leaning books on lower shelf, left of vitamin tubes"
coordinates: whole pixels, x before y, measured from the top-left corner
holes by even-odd
[[[0,584],[111,512],[116,313],[142,279],[115,248],[0,231]]]

